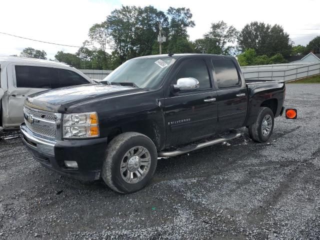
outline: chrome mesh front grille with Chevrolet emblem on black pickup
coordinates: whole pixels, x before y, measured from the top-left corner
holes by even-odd
[[[60,120],[60,113],[42,111],[26,106],[23,107],[23,113],[24,123],[30,131],[44,138],[56,138],[56,127]]]

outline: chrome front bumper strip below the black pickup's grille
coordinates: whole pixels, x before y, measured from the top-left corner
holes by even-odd
[[[30,148],[54,156],[56,141],[40,138],[34,135],[24,123],[20,125],[21,138],[24,144]]]

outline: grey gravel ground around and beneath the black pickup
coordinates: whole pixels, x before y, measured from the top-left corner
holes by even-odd
[[[287,84],[298,119],[267,143],[242,136],[159,159],[152,182],[118,194],[40,166],[0,139],[0,239],[320,239],[320,85]]]

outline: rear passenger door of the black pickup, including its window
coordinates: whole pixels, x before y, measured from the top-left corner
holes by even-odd
[[[220,132],[243,126],[247,96],[235,63],[231,59],[212,59],[217,86],[218,129]]]

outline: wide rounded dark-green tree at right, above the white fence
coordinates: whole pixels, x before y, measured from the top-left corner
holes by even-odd
[[[252,48],[257,55],[281,53],[286,57],[290,55],[292,42],[282,26],[253,21],[240,31],[238,46],[241,51]]]

